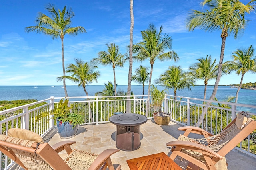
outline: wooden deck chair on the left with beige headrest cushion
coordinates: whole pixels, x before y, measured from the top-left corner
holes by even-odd
[[[101,154],[72,150],[70,145],[75,141],[62,141],[51,147],[48,143],[40,143],[40,135],[31,131],[28,135],[24,131],[28,130],[10,129],[8,135],[0,135],[0,151],[25,170],[105,170],[107,167],[114,170],[110,156],[119,149],[106,149]],[[35,141],[31,141],[31,138]],[[64,160],[58,155],[62,150],[66,150],[68,154]],[[121,165],[116,168],[120,169]]]

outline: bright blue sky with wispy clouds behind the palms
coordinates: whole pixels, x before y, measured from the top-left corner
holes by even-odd
[[[248,2],[249,0],[242,0]],[[37,33],[25,33],[28,26],[35,26],[38,12],[49,15],[45,7],[51,3],[62,10],[66,5],[75,14],[72,27],[82,26],[87,33],[78,36],[65,35],[64,57],[65,66],[74,63],[74,58],[89,62],[98,57],[98,52],[106,51],[106,43],[119,45],[121,53],[128,51],[130,31],[129,0],[0,0],[0,85],[62,85],[56,77],[62,76],[61,40]],[[154,64],[152,83],[168,66],[181,66],[184,70],[194,64],[198,58],[211,55],[219,61],[221,38],[220,31],[205,32],[200,29],[188,31],[185,20],[192,9],[200,10],[199,0],[134,0],[134,43],[141,41],[141,33],[154,23],[159,30],[172,37],[172,50],[180,60],[178,62],[156,61]],[[256,14],[251,13],[246,30],[238,39],[228,36],[224,62],[230,61],[236,48],[248,48],[256,44]],[[140,65],[150,67],[148,61],[133,63],[133,71]],[[111,66],[99,65],[101,73],[98,83],[104,85],[108,81],[114,83]],[[128,83],[127,62],[123,68],[116,68],[118,85]],[[214,80],[208,84],[214,84]],[[256,82],[256,74],[246,73],[243,82]],[[240,76],[232,73],[223,76],[220,84],[239,84]],[[196,84],[203,84],[198,80]],[[75,85],[66,81],[66,85]],[[132,82],[132,85],[136,85]]]

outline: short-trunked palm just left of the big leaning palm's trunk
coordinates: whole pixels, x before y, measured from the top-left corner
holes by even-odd
[[[199,62],[189,67],[190,74],[197,80],[204,80],[204,99],[206,99],[206,90],[208,80],[215,79],[218,74],[218,65],[216,59],[212,62],[211,56],[197,59]]]

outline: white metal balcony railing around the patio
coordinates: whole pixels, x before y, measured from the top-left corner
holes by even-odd
[[[128,99],[128,97],[130,99]],[[143,97],[143,98],[142,98]],[[149,97],[149,98],[148,98]],[[34,131],[44,136],[54,127],[54,120],[44,117],[37,123],[35,117],[42,111],[49,111],[58,107],[61,98],[50,97],[45,100],[34,102],[20,107],[0,111],[0,133],[6,134],[10,128],[22,128]],[[136,113],[152,118],[154,108],[151,106],[151,98],[144,96],[90,96],[90,97],[69,97],[69,102],[73,104],[72,111],[84,116],[84,124],[99,124],[109,122],[109,117],[114,112]],[[206,105],[206,102],[211,102]],[[39,106],[40,105],[40,106]],[[210,101],[197,98],[166,95],[162,105],[162,110],[171,115],[171,119],[183,125],[194,126],[205,110],[207,113],[200,123],[200,127],[211,133],[219,133],[226,125],[236,117],[240,111],[247,111],[250,115],[256,115],[256,106],[246,104],[235,104],[230,102]],[[248,139],[250,136],[248,136]],[[246,152],[256,157],[248,149],[236,149]],[[8,169],[13,163],[7,157],[2,156],[1,167]]]

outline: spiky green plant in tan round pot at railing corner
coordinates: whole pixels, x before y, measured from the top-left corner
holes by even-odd
[[[154,121],[158,125],[167,125],[170,122],[170,114],[162,112],[161,107],[162,103],[164,102],[164,96],[166,93],[166,90],[158,90],[156,86],[152,85],[152,88],[150,90],[151,93],[151,100],[152,100],[152,106],[155,109],[158,109],[158,112],[153,113]]]

